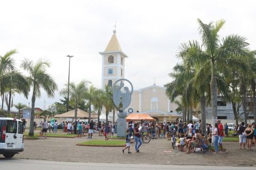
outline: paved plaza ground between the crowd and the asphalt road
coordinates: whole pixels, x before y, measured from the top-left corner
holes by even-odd
[[[98,134],[94,134],[93,138],[103,139],[103,137],[98,137]],[[134,152],[134,145],[132,145],[132,154],[123,154],[122,148],[76,146],[76,143],[86,140],[91,139],[82,137],[81,139],[47,138],[25,140],[25,150],[19,155],[15,155],[14,158],[80,163],[256,165],[256,147],[253,147],[252,149],[254,150],[252,151],[238,149],[238,142],[223,142],[223,146],[228,150],[223,154],[214,154],[212,152],[185,154],[171,149],[171,141],[157,139],[143,144],[139,153]],[[0,156],[0,161],[3,160],[4,158]]]

